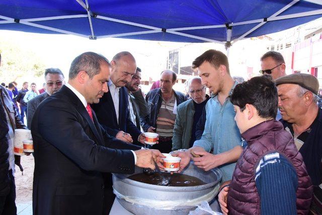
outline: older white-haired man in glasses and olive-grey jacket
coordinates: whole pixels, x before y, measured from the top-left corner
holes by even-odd
[[[201,84],[201,78],[195,77],[188,81],[190,100],[180,104],[177,108],[177,118],[172,137],[172,151],[189,149],[196,140],[196,125],[209,96],[206,87]]]

